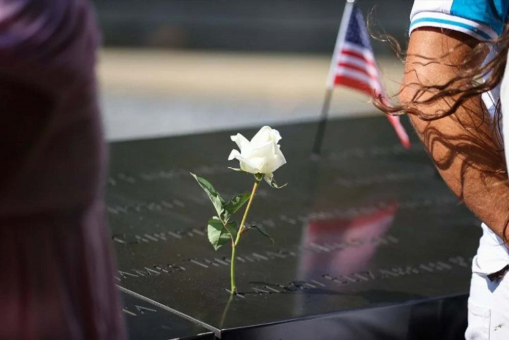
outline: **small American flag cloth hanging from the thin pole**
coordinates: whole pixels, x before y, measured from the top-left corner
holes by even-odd
[[[328,88],[340,85],[362,91],[371,97],[381,96],[386,101],[362,12],[350,1],[345,8],[337,36],[327,82]],[[410,140],[400,117],[387,117],[401,143],[409,147]]]

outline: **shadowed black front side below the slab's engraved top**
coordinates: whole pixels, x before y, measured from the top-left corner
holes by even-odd
[[[466,297],[353,310],[313,319],[223,331],[222,340],[463,340]]]

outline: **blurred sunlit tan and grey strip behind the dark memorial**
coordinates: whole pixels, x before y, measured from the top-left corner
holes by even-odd
[[[379,58],[389,93],[402,65]],[[99,78],[109,140],[317,119],[325,56],[104,49]],[[369,98],[334,90],[331,117],[377,115]]]

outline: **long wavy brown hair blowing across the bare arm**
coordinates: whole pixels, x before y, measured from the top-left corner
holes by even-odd
[[[368,16],[368,27],[372,27],[372,18],[373,15],[370,14]],[[375,30],[371,29],[371,33]],[[378,31],[380,32],[380,31]],[[400,46],[400,44],[393,37],[388,35],[374,35],[377,40],[388,42],[394,49],[395,53],[399,57],[400,60],[404,61],[406,57],[410,55],[406,55]],[[461,45],[461,44],[460,44]],[[416,56],[423,60],[423,66],[432,64],[432,63],[441,63],[444,64],[443,60],[446,59],[447,55],[451,53],[458,46],[451,47],[445,55],[439,58],[427,58],[425,56]],[[496,51],[495,54],[490,55],[490,58],[486,59],[487,52],[490,50]],[[480,41],[475,44],[472,48],[471,53],[468,57],[463,60],[460,64],[444,64],[451,67],[456,67],[460,70],[459,74],[455,76],[453,79],[450,79],[445,84],[440,85],[422,85],[420,83],[411,83],[405,84],[400,91],[395,94],[393,97],[387,100],[385,97],[378,95],[374,98],[374,105],[384,112],[387,115],[399,116],[404,114],[415,115],[422,120],[432,121],[440,118],[444,118],[450,115],[454,115],[457,110],[461,107],[465,109],[464,104],[467,100],[480,96],[483,93],[490,91],[497,87],[504,75],[505,65],[507,61],[507,51],[509,50],[509,25],[506,25],[503,33],[497,39],[489,40],[489,41]],[[484,63],[479,63],[479,60],[485,60]],[[406,87],[413,87],[416,90],[413,92],[413,96],[410,100],[405,102],[398,102],[395,100],[395,97],[398,97]],[[449,104],[447,108],[437,110],[435,112],[424,112],[419,108],[430,106],[438,101],[446,100]],[[501,110],[500,110],[500,100],[495,103],[495,117],[494,117],[494,128],[498,129],[498,132],[501,131]],[[483,107],[484,108],[484,107]],[[484,108],[486,110],[486,108]],[[467,109],[468,110],[468,109]],[[494,134],[495,136],[501,136],[500,133]],[[500,137],[501,138],[501,137]],[[509,136],[506,136],[509,138]],[[479,150],[485,153],[496,153],[500,158],[503,157],[503,141],[497,141],[496,145],[500,145],[500,149],[494,150],[493,146],[487,148],[486,145],[479,145]],[[469,147],[468,143],[464,143],[465,148]],[[471,143],[470,143],[471,144]],[[461,148],[462,143],[456,144],[456,148]],[[471,147],[471,145],[470,145]],[[479,152],[482,153],[482,152]],[[486,157],[488,159],[488,157]],[[472,163],[468,166],[472,166]],[[479,162],[480,163],[480,162]],[[505,162],[504,162],[505,163]],[[441,164],[437,164],[436,166],[440,169]],[[484,170],[484,169],[483,169]],[[497,169],[492,172],[490,175],[495,176],[500,180],[507,181],[507,169],[504,166],[504,169]],[[462,196],[462,195],[460,195]],[[462,197],[460,197],[462,199]],[[507,244],[509,244],[509,237],[507,236],[507,228],[509,225],[509,213],[505,218],[505,224],[503,228],[503,240]]]

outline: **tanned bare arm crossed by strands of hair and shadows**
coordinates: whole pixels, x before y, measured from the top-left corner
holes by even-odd
[[[408,46],[400,101],[411,101],[418,88],[413,83],[441,85],[456,77],[461,69],[444,64],[461,64],[476,43],[473,38],[452,31],[433,28],[414,31]],[[422,58],[444,55],[447,57],[432,63]],[[418,104],[416,108],[432,115],[450,108],[453,102],[454,98],[447,98]],[[503,238],[509,212],[509,185],[496,122],[484,113],[482,105],[478,96],[468,100],[454,115],[433,121],[410,115],[410,120],[449,188]],[[509,236],[509,232],[506,234]]]

